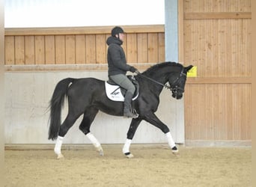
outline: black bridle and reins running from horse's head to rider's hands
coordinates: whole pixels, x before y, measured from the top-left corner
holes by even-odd
[[[186,73],[184,73],[184,68],[182,68],[182,70],[181,70],[181,72],[180,72],[180,76],[178,76],[178,77],[174,80],[174,82],[170,83],[170,85],[166,85],[166,84],[164,85],[164,84],[162,84],[161,82],[157,82],[156,80],[151,79],[150,77],[147,77],[147,76],[142,75],[142,74],[141,74],[140,72],[138,72],[138,71],[135,71],[135,73],[137,73],[138,76],[141,76],[141,77],[143,77],[143,78],[145,78],[145,79],[150,80],[151,82],[156,83],[157,85],[161,85],[161,86],[163,86],[164,88],[169,89],[172,93],[177,93],[177,91],[182,91],[182,92],[184,92],[184,89],[183,89],[183,88],[180,88],[180,87],[178,86],[179,83],[180,83],[180,79],[186,79]]]

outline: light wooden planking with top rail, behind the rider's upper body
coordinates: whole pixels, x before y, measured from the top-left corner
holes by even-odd
[[[6,65],[106,64],[109,27],[7,29]],[[158,63],[165,59],[163,25],[125,26],[122,47],[127,62]]]

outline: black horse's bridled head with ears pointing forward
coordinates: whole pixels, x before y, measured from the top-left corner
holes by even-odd
[[[188,67],[183,67],[180,73],[177,73],[176,76],[171,76],[168,80],[169,85],[171,86],[171,96],[176,99],[181,99],[185,91],[186,84],[186,73],[192,68],[190,65]]]

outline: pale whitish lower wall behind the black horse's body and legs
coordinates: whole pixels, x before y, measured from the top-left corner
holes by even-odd
[[[106,72],[6,72],[5,77],[5,144],[51,144],[48,137],[49,99],[57,82],[67,77],[95,77],[107,79]],[[163,89],[156,114],[171,129],[176,139],[174,123],[179,109],[170,91]],[[64,116],[67,114],[65,103]],[[67,132],[65,144],[87,144],[85,135],[79,130],[79,121]],[[91,132],[102,144],[123,144],[129,119],[97,114]],[[107,132],[107,133],[106,133]],[[142,122],[135,134],[133,143],[163,143],[165,135],[149,123]]]

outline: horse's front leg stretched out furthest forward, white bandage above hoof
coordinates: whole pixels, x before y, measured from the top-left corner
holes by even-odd
[[[151,123],[153,126],[156,126],[159,129],[161,129],[162,132],[165,133],[165,137],[168,141],[169,147],[171,147],[172,153],[178,152],[174,139],[171,136],[170,129],[168,128],[168,126],[162,123],[162,121],[159,120],[158,117],[156,117],[156,114],[147,113],[147,115],[144,117],[144,120],[146,120],[148,123]]]

